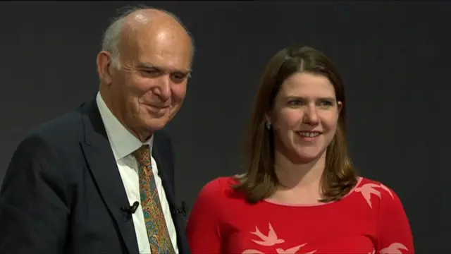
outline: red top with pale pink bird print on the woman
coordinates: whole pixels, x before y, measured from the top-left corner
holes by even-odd
[[[360,178],[342,200],[249,205],[221,177],[202,188],[187,222],[192,253],[414,253],[396,193]]]

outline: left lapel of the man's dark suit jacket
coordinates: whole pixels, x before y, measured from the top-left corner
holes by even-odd
[[[126,218],[121,210],[121,207],[129,204],[127,193],[125,193],[116,159],[114,159],[95,100],[85,106],[84,123],[85,141],[80,144],[89,170],[107,209],[118,226],[128,253],[139,253],[132,219]]]

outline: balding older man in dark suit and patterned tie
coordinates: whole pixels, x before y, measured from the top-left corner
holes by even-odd
[[[193,54],[166,11],[140,8],[109,26],[97,97],[36,128],[11,159],[0,253],[190,253],[160,130],[183,103]]]

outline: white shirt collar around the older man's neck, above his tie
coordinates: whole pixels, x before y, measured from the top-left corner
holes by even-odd
[[[128,131],[120,121],[118,121],[116,116],[113,115],[109,107],[106,106],[100,92],[97,92],[96,101],[116,161],[130,155],[132,152],[135,152],[135,150],[140,148],[142,145],[149,145],[150,152],[152,154],[154,135],[152,135],[149,140],[142,143],[139,139],[132,135],[132,133],[130,133],[130,131]]]

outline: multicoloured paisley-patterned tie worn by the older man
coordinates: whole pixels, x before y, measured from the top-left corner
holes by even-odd
[[[149,145],[143,145],[132,155],[138,162],[141,206],[152,254],[175,253],[152,173]]]

